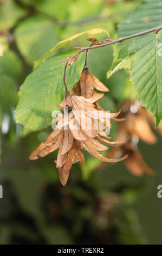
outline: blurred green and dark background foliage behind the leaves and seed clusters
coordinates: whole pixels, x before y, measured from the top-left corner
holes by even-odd
[[[15,123],[18,88],[33,70],[34,60],[58,41],[90,28],[104,28],[116,38],[118,23],[141,1],[131,0],[1,0],[0,43],[0,244],[161,244],[161,141],[139,142],[154,177],[137,178],[119,162],[94,170],[99,160],[85,154],[85,165],[73,164],[66,187],[53,162],[57,153],[36,161],[28,156],[52,131],[32,132]],[[99,40],[105,35],[97,35]],[[60,51],[87,46],[86,36]],[[100,103],[112,112],[135,93],[126,71],[109,80],[113,47],[88,54],[90,72],[110,92]],[[112,124],[111,135],[118,133]]]

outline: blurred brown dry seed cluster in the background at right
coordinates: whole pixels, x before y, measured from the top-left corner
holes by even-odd
[[[128,158],[124,162],[132,174],[136,176],[144,173],[154,175],[154,170],[144,162],[137,147],[139,139],[147,144],[154,144],[157,141],[150,127],[150,124],[152,126],[155,124],[152,114],[141,106],[139,100],[135,102],[128,100],[121,108],[121,117],[125,118],[125,121],[118,123],[118,139],[124,139],[125,143],[109,151],[107,157],[119,157],[121,154],[127,154]],[[158,127],[158,131],[161,133],[160,127]],[[105,163],[99,164],[96,169],[103,166]]]

